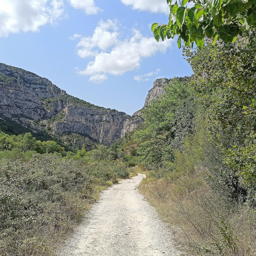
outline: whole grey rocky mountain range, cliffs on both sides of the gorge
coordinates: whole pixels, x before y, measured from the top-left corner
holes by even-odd
[[[180,81],[188,77],[178,78]],[[144,108],[165,93],[172,79],[157,79]],[[46,78],[0,63],[0,129],[8,134],[31,132],[39,140],[90,150],[94,143],[110,145],[142,122],[141,110],[132,116],[80,100]]]

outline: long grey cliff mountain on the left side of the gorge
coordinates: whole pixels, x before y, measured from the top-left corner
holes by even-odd
[[[0,113],[35,133],[76,133],[105,145],[121,137],[124,121],[131,118],[72,97],[46,78],[5,64],[0,64]]]

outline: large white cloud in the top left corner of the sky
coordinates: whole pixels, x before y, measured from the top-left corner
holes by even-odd
[[[63,0],[1,0],[0,36],[39,31],[40,26],[56,22],[63,7]]]

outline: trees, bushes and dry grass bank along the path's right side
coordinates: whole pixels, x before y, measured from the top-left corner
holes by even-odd
[[[147,171],[139,189],[192,255],[255,255],[255,56],[235,44],[184,48],[194,71],[174,79],[126,136]]]

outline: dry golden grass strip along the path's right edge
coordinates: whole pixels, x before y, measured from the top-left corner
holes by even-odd
[[[205,170],[148,176],[139,191],[176,232],[176,243],[192,255],[256,255],[256,214],[213,191]]]

